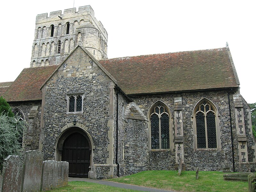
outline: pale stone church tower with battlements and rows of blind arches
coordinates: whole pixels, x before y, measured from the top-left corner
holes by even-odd
[[[77,44],[107,59],[108,33],[90,5],[36,16],[30,67],[59,65]]]

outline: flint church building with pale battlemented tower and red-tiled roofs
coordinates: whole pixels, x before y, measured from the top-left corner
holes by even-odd
[[[27,122],[24,150],[69,162],[69,177],[146,170],[255,172],[250,107],[228,44],[107,58],[91,6],[36,16],[30,68],[0,83]]]

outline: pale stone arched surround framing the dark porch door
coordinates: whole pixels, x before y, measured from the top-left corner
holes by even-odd
[[[89,166],[89,173],[88,177],[92,178],[93,174],[93,149],[95,148],[92,142],[92,137],[90,134],[87,132],[87,127],[84,126],[83,124],[76,123],[76,126],[74,126],[73,122],[67,124],[61,129],[61,133],[58,136],[56,143],[55,143],[55,160],[56,161],[61,161],[62,160],[62,152],[63,152],[63,144],[65,140],[72,135],[73,133],[80,133],[83,135],[86,140],[89,143],[90,146],[90,166]]]

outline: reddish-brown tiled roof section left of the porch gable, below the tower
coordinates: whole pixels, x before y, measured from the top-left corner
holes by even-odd
[[[7,101],[41,100],[40,87],[57,68],[47,67],[24,68],[8,90],[3,94]]]

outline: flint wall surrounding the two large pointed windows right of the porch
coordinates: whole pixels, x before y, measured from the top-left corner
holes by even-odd
[[[228,96],[225,91],[212,92],[194,92],[182,94],[154,94],[134,96],[134,102],[140,107],[144,115],[148,118],[148,111],[151,106],[158,100],[164,102],[171,110],[171,123],[174,130],[174,97],[182,97],[182,114],[183,114],[183,136],[184,136],[184,163],[186,170],[221,171],[223,164],[232,165],[232,148],[229,121]],[[206,98],[210,100],[218,110],[220,124],[220,149],[196,149],[194,142],[193,130],[193,109],[198,101]],[[234,108],[233,100],[230,100],[231,109]],[[231,110],[233,138],[236,138],[235,114]],[[171,141],[174,142],[175,135],[171,135]],[[237,141],[234,140],[235,162],[238,161]],[[226,148],[226,160],[224,149]],[[175,149],[173,150],[149,150],[148,170],[165,169],[173,170],[175,164]]]

